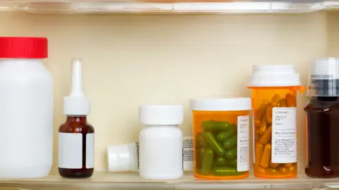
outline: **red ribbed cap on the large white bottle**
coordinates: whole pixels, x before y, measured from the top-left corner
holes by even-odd
[[[0,58],[44,59],[47,57],[46,37],[0,37]]]

